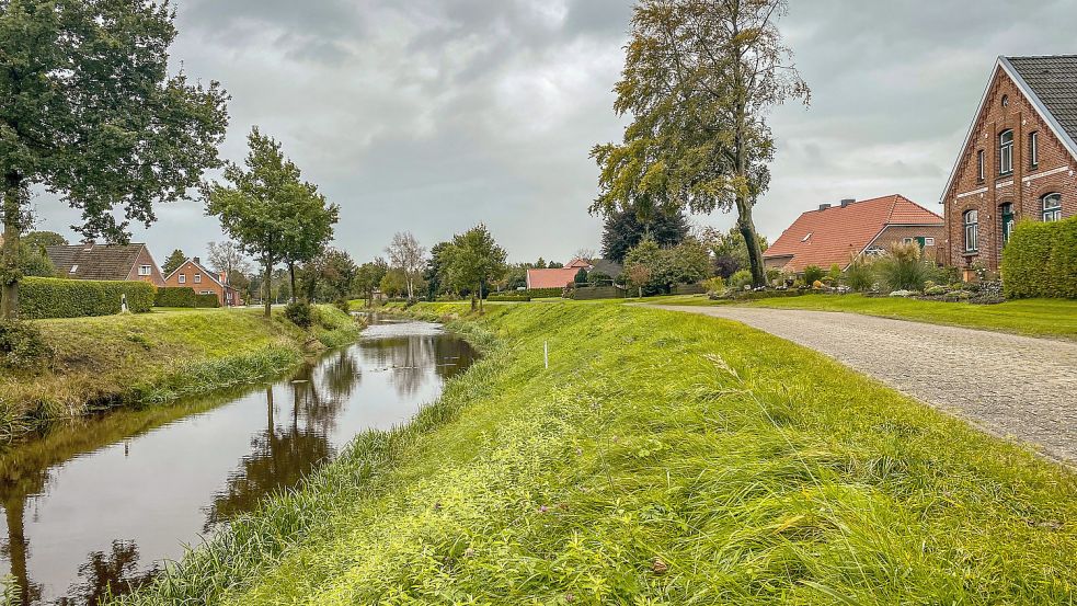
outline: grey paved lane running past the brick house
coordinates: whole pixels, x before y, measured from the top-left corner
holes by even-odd
[[[743,322],[1051,458],[1077,462],[1077,343],[855,313],[649,307]]]

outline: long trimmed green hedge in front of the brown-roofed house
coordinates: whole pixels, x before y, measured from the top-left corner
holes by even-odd
[[[27,277],[19,284],[19,316],[26,320],[112,316],[127,309],[144,313],[153,307],[153,285],[146,282],[104,282]]]

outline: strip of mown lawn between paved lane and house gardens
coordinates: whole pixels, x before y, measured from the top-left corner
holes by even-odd
[[[644,302],[664,305],[731,305],[706,296],[657,297]],[[749,301],[737,305],[772,309],[846,311],[914,322],[1011,332],[1029,336],[1077,339],[1077,301],[1067,299],[1016,299],[999,305],[921,301],[900,297],[862,295],[805,295]]]

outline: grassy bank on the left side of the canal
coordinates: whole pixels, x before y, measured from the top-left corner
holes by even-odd
[[[303,331],[256,309],[34,320],[54,351],[44,368],[0,374],[0,437],[96,405],[159,403],[274,376],[320,347],[352,341],[359,327],[319,307]]]

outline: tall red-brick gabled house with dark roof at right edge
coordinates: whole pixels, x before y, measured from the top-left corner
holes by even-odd
[[[1020,220],[1077,215],[1077,55],[999,57],[942,196],[943,262],[997,271]]]

